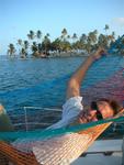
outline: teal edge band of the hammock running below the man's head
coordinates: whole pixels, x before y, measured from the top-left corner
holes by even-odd
[[[106,120],[99,120],[95,122],[89,122],[89,123],[82,123],[77,124],[68,128],[60,128],[55,130],[36,130],[36,131],[16,131],[16,132],[0,132],[0,140],[4,141],[15,141],[16,139],[24,139],[24,141],[30,140],[44,140],[48,138],[55,138],[63,134],[68,134],[72,132],[79,132],[87,130],[92,127],[97,127],[100,124],[109,123],[109,122],[122,122],[124,121],[124,117],[113,118],[113,119],[106,119]]]

